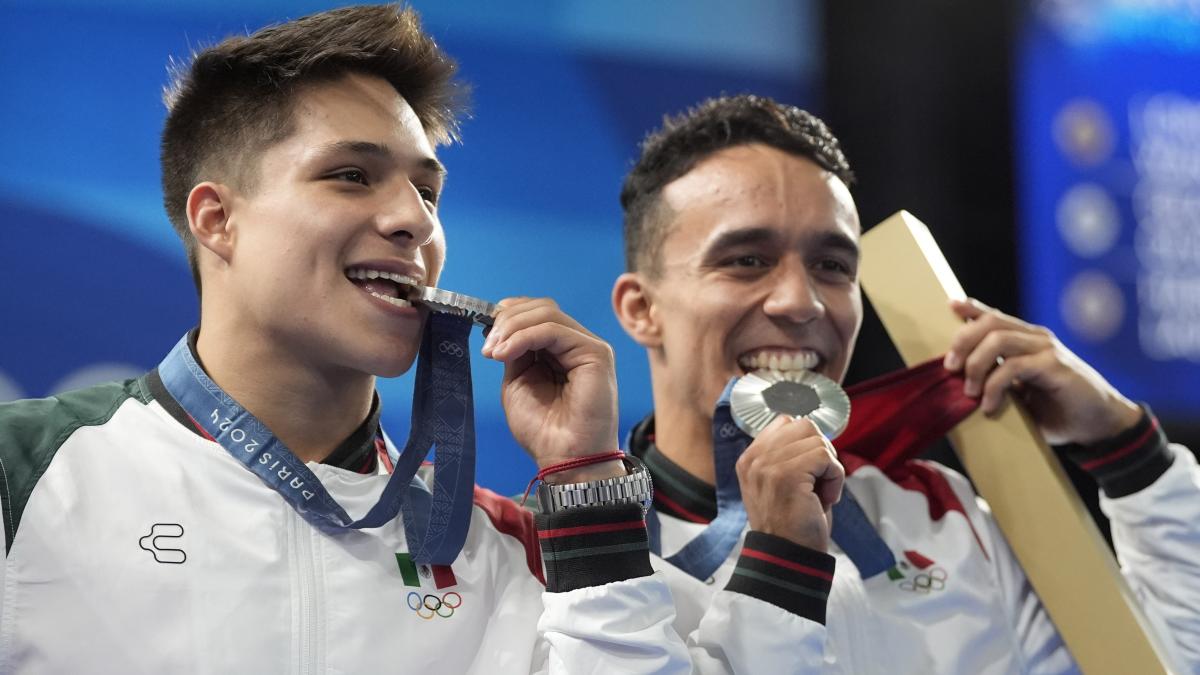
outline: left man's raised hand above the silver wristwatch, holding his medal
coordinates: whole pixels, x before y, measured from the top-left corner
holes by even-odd
[[[484,342],[504,362],[500,401],[512,437],[538,467],[617,449],[612,347],[547,298],[506,298]],[[618,460],[554,473],[576,483],[625,473]]]

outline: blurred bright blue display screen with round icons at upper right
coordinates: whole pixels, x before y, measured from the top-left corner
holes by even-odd
[[[1019,43],[1025,315],[1126,395],[1200,411],[1200,5],[1038,2]]]

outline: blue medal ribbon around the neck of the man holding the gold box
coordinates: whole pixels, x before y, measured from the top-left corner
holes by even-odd
[[[713,460],[716,468],[716,518],[698,536],[688,542],[667,562],[704,581],[715,573],[738,545],[748,518],[738,484],[737,462],[752,438],[733,424],[730,393],[737,378],[730,381],[713,412]],[[662,555],[661,525],[652,508],[646,514],[650,550]],[[863,579],[890,569],[895,556],[866,518],[862,506],[844,488],[841,501],[833,507],[833,532],[838,548],[846,552]]]

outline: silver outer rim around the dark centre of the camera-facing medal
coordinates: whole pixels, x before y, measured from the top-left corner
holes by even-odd
[[[730,393],[730,412],[733,413],[733,423],[738,429],[754,438],[776,417],[785,414],[773,410],[763,399],[763,392],[772,384],[785,381],[808,384],[816,390],[821,405],[802,417],[811,419],[826,438],[832,441],[846,430],[846,424],[850,423],[850,396],[836,382],[810,370],[767,369],[746,374],[733,384],[733,390]]]

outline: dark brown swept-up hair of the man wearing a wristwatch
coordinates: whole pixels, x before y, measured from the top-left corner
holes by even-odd
[[[457,65],[421,30],[409,7],[342,7],[233,36],[172,67],[163,100],[162,191],[184,240],[197,293],[196,238],[187,196],[205,180],[256,189],[258,157],[295,130],[293,107],[305,86],[361,73],[388,80],[416,113],[434,145],[457,141],[466,86]]]

